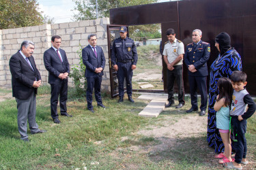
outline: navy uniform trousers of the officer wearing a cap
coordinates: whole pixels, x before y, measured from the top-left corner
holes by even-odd
[[[119,97],[124,97],[124,79],[126,80],[127,95],[132,96],[132,61],[127,61],[127,63],[117,61],[117,66]]]

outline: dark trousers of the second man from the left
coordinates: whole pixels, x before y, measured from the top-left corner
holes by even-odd
[[[67,112],[67,100],[68,100],[68,79],[57,79],[54,84],[51,84],[51,116],[53,119],[58,118],[57,105],[59,98],[59,106],[61,108],[61,114]]]

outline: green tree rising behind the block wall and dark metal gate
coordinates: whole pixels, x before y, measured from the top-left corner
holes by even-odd
[[[76,3],[74,10],[79,14],[74,14],[75,20],[92,20],[96,18],[96,0],[73,0]],[[157,0],[98,0],[98,17],[109,17],[109,9],[115,7],[128,7],[133,5],[143,5],[156,3]]]

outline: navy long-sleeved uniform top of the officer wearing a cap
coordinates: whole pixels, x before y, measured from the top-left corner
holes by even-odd
[[[129,37],[122,39],[121,37],[115,39],[113,42],[113,49],[111,52],[111,61],[113,65],[117,61],[132,61],[132,65],[137,65],[138,54],[134,41]]]

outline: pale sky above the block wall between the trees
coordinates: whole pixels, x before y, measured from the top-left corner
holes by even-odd
[[[171,0],[158,0],[158,2],[166,2]],[[75,3],[72,0],[37,0],[40,11],[43,12],[43,16],[49,16],[54,18],[54,23],[72,22],[76,11],[74,9]]]

